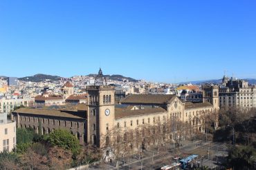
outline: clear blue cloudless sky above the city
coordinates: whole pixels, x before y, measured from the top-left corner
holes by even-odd
[[[256,78],[256,1],[0,1],[0,75]]]

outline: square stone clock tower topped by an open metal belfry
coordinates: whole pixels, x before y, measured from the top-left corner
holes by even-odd
[[[107,85],[100,69],[94,85],[86,88],[88,93],[87,142],[102,147],[101,138],[111,130],[115,121],[115,89]]]

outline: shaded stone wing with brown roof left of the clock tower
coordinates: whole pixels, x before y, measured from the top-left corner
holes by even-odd
[[[33,128],[37,134],[49,134],[54,129],[66,129],[71,131],[82,145],[88,138],[85,115],[86,111],[21,108],[12,112],[12,120],[16,120],[17,127]]]

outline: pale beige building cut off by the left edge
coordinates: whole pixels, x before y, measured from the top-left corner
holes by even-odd
[[[12,151],[16,145],[16,123],[7,120],[7,114],[0,114],[0,152]]]

